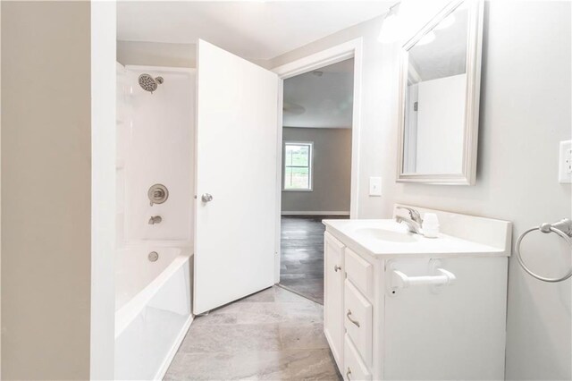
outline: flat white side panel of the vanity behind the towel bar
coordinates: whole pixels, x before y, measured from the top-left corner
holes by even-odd
[[[429,258],[396,259],[408,276],[433,275]],[[391,380],[504,377],[507,258],[443,258],[457,279],[434,290],[386,289],[383,373]],[[385,278],[391,282],[391,266]]]

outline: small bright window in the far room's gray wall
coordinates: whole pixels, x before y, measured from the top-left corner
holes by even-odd
[[[312,142],[286,142],[284,190],[312,190]]]

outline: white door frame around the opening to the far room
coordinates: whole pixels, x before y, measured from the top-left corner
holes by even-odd
[[[351,125],[351,186],[349,196],[349,218],[357,218],[357,203],[359,196],[359,135],[361,131],[362,108],[362,71],[363,71],[363,38],[355,38],[330,47],[313,55],[307,55],[291,63],[285,63],[272,69],[278,75],[278,129],[276,142],[276,235],[274,259],[274,283],[280,283],[280,241],[282,217],[282,104],[284,96],[284,80],[305,72],[311,72],[333,63],[339,63],[349,58],[354,59],[354,102]]]

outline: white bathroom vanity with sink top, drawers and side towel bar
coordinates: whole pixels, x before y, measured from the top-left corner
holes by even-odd
[[[341,374],[503,379],[511,224],[414,208],[438,216],[438,238],[324,220],[324,333]]]

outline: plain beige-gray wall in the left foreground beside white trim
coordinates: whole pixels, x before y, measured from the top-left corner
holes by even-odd
[[[90,3],[0,6],[2,378],[88,379]]]

